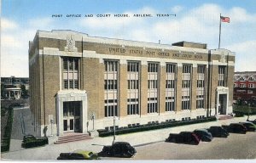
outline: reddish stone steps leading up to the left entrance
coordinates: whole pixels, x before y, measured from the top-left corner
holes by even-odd
[[[76,142],[81,140],[88,140],[91,139],[88,133],[72,133],[72,134],[65,134],[58,138],[55,144],[58,143],[69,143],[69,142]]]

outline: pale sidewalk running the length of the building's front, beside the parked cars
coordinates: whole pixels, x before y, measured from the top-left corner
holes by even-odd
[[[250,120],[256,119],[256,115],[251,115]],[[218,120],[207,123],[200,123],[188,126],[176,126],[165,129],[159,129],[148,132],[136,132],[124,135],[117,135],[116,141],[125,141],[133,146],[147,144],[152,142],[164,141],[170,132],[193,131],[196,128],[207,128],[209,126],[228,125],[231,122],[246,121],[247,116],[237,117],[227,120]],[[13,140],[11,140],[13,141]],[[3,160],[56,160],[61,152],[70,152],[75,149],[88,149],[94,152],[100,152],[103,145],[110,145],[113,137],[93,138],[73,143],[49,144],[44,147],[33,149],[21,149],[9,153],[2,154]]]

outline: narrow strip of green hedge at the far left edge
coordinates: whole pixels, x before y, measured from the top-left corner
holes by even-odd
[[[14,110],[9,109],[9,115],[6,126],[4,127],[3,139],[1,142],[1,152],[9,151],[9,143],[11,138],[12,126],[13,126]]]

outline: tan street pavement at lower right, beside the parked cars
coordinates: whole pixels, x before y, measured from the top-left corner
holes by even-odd
[[[230,133],[229,138],[213,138],[199,145],[182,143],[154,143],[137,147],[135,160],[208,160],[256,159],[256,132]]]

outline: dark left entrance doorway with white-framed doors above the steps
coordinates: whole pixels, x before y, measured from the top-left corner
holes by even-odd
[[[63,102],[63,132],[81,132],[81,101]]]

